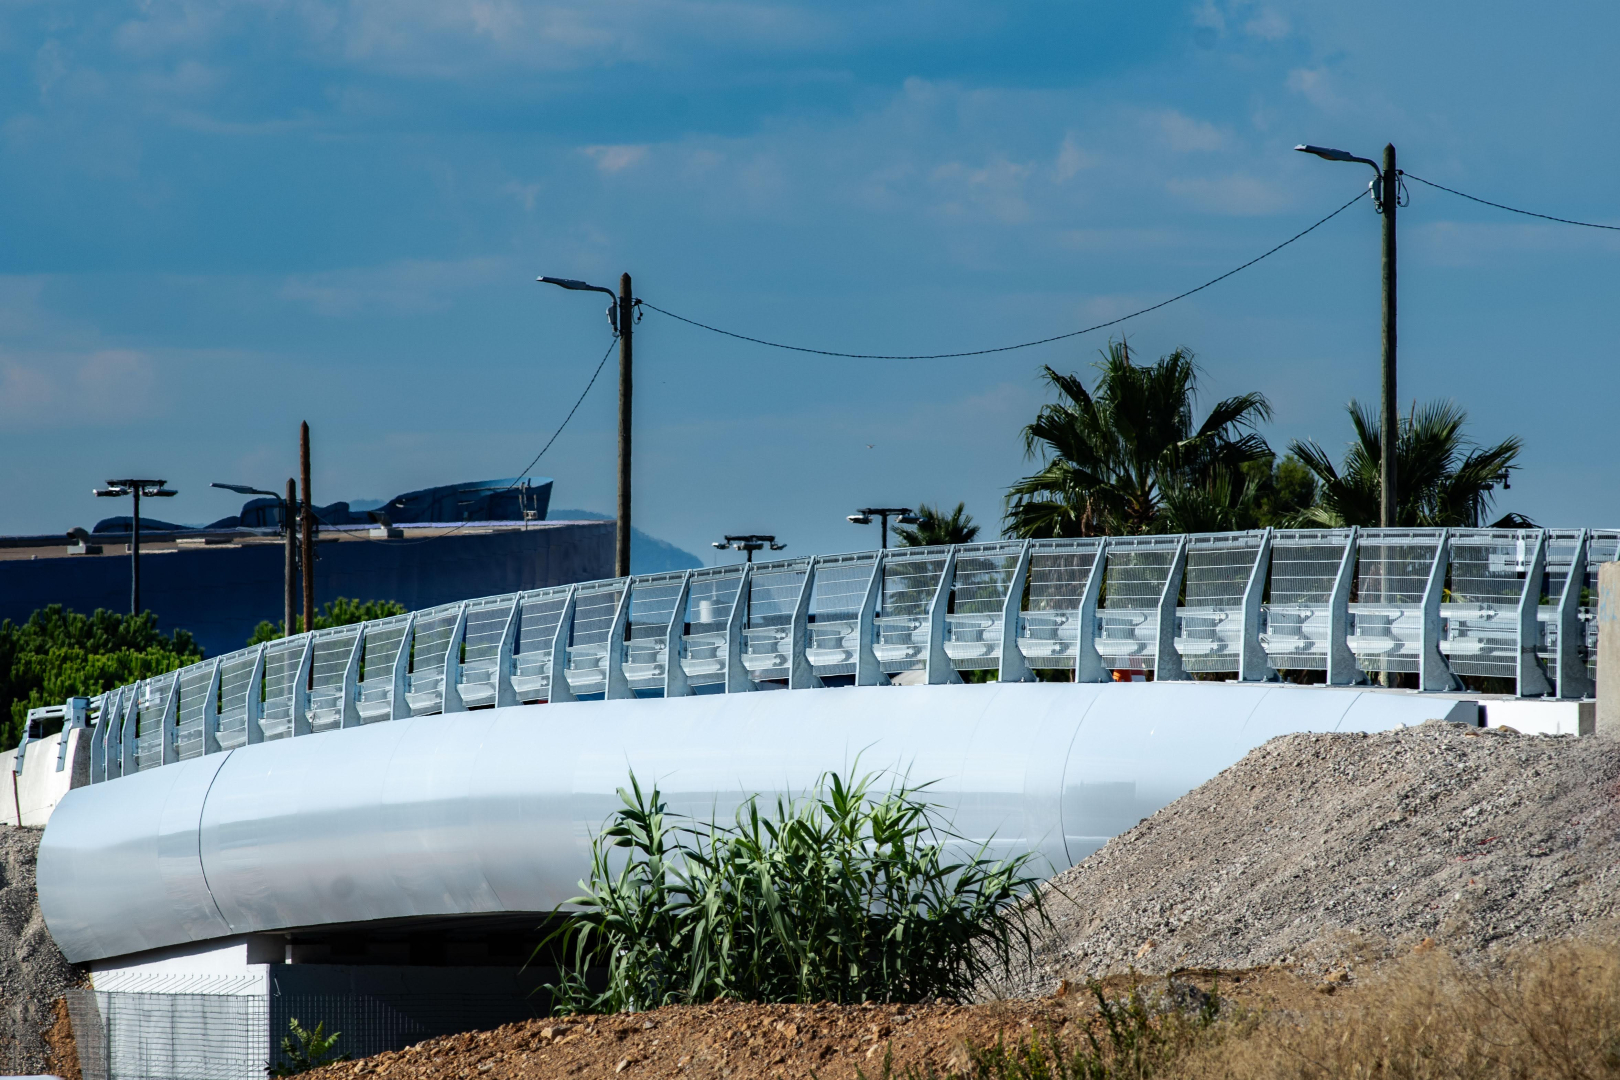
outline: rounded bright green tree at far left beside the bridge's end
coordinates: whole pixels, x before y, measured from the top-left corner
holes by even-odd
[[[185,630],[164,636],[152,612],[91,615],[42,607],[23,625],[0,622],[0,748],[23,737],[28,711],[172,672],[202,659]]]

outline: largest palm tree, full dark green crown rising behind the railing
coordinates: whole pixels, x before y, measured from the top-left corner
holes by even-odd
[[[1008,491],[1008,534],[1181,531],[1194,520],[1238,517],[1249,494],[1243,466],[1272,457],[1252,431],[1272,418],[1265,397],[1225,398],[1196,424],[1191,351],[1139,366],[1121,340],[1102,356],[1095,390],[1045,369],[1063,400],[1024,427],[1024,453],[1038,453],[1045,466]]]

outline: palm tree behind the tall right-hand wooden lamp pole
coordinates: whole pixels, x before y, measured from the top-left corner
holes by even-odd
[[[1379,523],[1379,466],[1382,426],[1371,408],[1349,403],[1356,442],[1349,445],[1341,470],[1315,444],[1294,440],[1290,450],[1317,476],[1315,504],[1299,517],[1301,525],[1372,526]],[[1395,478],[1398,504],[1395,525],[1463,526],[1484,523],[1495,486],[1516,470],[1518,436],[1494,447],[1474,445],[1463,436],[1468,413],[1453,402],[1430,402],[1400,421],[1395,437]],[[1508,515],[1500,525],[1524,521]]]

